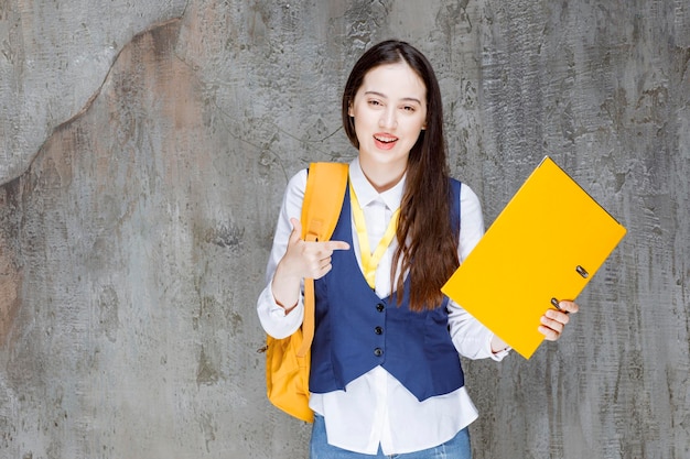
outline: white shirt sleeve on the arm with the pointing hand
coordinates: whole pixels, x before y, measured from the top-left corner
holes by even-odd
[[[297,331],[304,318],[303,288],[298,305],[289,314],[276,303],[271,283],[278,263],[288,250],[288,240],[292,232],[291,218],[300,219],[304,189],[306,188],[306,170],[297,173],[288,183],[283,201],[276,225],[273,245],[266,267],[266,287],[257,300],[257,314],[263,330],[273,338],[285,338]]]

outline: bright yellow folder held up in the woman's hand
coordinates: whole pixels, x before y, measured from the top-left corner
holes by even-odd
[[[540,317],[575,299],[625,232],[547,156],[442,292],[529,359]]]

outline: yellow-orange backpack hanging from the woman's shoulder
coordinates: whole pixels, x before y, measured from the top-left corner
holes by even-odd
[[[312,163],[302,205],[302,239],[327,241],[337,223],[345,187],[347,164]],[[309,407],[309,369],[314,338],[314,280],[304,280],[304,321],[283,339],[267,337],[266,389],[278,408],[306,423],[314,420]]]

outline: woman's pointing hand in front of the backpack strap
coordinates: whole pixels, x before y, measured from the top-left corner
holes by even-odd
[[[301,238],[302,225],[291,218],[292,232],[288,239],[288,250],[276,266],[271,283],[276,303],[292,310],[300,298],[302,278],[321,278],[331,269],[331,255],[335,250],[349,250],[344,241],[306,242]]]

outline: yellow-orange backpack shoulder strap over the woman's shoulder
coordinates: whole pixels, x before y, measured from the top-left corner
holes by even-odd
[[[348,165],[311,163],[302,204],[302,239],[327,241],[335,230],[347,186]],[[314,339],[314,280],[304,280],[303,341],[298,357],[304,357]]]

